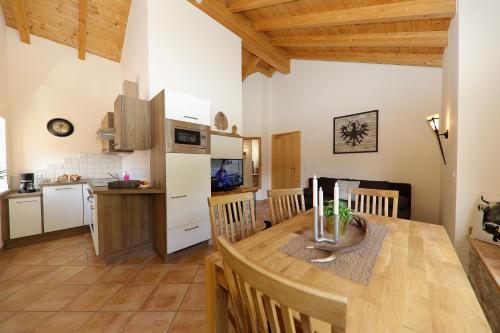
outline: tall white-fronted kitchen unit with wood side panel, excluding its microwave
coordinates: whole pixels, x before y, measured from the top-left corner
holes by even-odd
[[[166,212],[166,223],[154,226],[164,230],[166,237],[154,240],[153,246],[167,255],[210,239],[207,198],[211,195],[211,173],[210,154],[167,148],[169,144],[171,147],[169,140],[173,136],[166,119],[208,127],[211,106],[210,102],[194,96],[162,90],[153,97],[149,107],[153,119],[151,183],[165,188]]]

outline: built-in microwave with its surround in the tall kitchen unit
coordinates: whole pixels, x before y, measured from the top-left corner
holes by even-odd
[[[210,126],[165,119],[167,153],[210,154]]]

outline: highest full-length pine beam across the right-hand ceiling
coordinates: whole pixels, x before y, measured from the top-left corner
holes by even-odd
[[[278,17],[253,24],[256,31],[301,29],[378,22],[449,18],[455,15],[455,0],[411,0],[312,14]]]

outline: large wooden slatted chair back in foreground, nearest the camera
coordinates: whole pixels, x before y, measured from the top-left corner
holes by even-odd
[[[266,271],[244,258],[222,237],[219,245],[237,332],[345,331],[345,297]]]

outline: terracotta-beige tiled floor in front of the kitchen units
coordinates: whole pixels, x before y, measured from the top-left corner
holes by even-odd
[[[265,203],[257,205],[262,228]],[[105,265],[89,234],[0,251],[0,333],[205,332],[205,256],[150,252]]]

